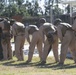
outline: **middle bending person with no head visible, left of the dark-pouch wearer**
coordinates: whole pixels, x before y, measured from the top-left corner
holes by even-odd
[[[30,41],[29,35],[32,35],[31,41]],[[36,45],[37,45],[37,49],[39,52],[40,60],[42,60],[42,37],[36,25],[29,25],[28,27],[26,27],[26,38],[30,45],[29,53],[28,53],[28,60],[26,61],[26,63],[31,62]]]

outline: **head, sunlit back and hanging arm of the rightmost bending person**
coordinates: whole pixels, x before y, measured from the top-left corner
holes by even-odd
[[[56,19],[54,22],[54,25],[57,26],[57,32],[58,32],[58,37],[60,41],[62,42],[63,37],[65,36],[66,31],[71,28],[72,26],[68,23],[62,22],[61,19]]]

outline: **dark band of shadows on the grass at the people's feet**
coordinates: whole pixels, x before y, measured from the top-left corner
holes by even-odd
[[[58,70],[58,69],[71,69],[71,68],[76,68],[76,64],[71,63],[71,64],[64,64],[63,66],[59,65],[58,63],[46,63],[44,65],[40,64],[40,62],[31,62],[31,63],[26,63],[25,61],[6,61],[6,62],[1,62],[0,64],[5,65],[5,66],[14,66],[16,68],[23,68],[23,67],[36,67],[36,68],[51,68],[53,70]]]

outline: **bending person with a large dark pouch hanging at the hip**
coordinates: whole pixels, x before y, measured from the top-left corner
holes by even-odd
[[[44,41],[43,59],[41,64],[46,63],[46,58],[51,48],[53,48],[55,60],[58,62],[58,36],[56,34],[55,26],[51,23],[44,23],[40,26],[39,31]]]

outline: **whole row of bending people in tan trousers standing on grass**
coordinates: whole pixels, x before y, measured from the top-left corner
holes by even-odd
[[[3,59],[12,59],[13,54],[10,40],[14,37],[15,55],[18,61],[24,60],[23,46],[26,38],[29,43],[29,53],[26,63],[32,61],[35,46],[37,46],[41,64],[46,63],[47,56],[50,50],[53,49],[55,61],[59,62],[60,65],[63,65],[68,48],[76,63],[75,22],[76,19],[73,25],[70,25],[68,23],[63,23],[60,19],[56,19],[54,24],[51,24],[46,22],[44,18],[41,18],[39,21],[40,27],[37,27],[36,25],[25,26],[23,23],[12,19],[3,19],[0,22],[0,28],[2,29],[1,44],[3,48]],[[32,35],[31,40],[29,37],[30,35]],[[61,41],[60,59],[58,55],[58,39]]]

